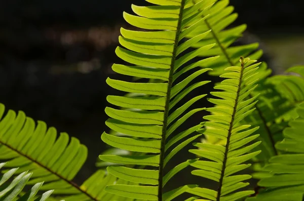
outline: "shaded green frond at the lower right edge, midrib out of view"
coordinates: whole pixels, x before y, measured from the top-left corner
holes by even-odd
[[[299,117],[289,122],[284,130],[285,139],[276,144],[282,155],[271,158],[264,171],[272,175],[258,185],[265,187],[256,197],[248,200],[301,201],[304,194],[304,104],[297,108]]]

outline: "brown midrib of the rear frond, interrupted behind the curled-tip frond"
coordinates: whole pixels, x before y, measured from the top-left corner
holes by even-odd
[[[219,38],[217,37],[216,33],[213,31],[211,25],[210,25],[209,22],[208,22],[208,19],[205,20],[205,23],[206,23],[208,29],[211,30],[212,36],[214,37],[216,43],[217,43],[218,46],[220,47],[222,53],[224,54],[224,56],[225,56],[225,58],[227,59],[227,61],[229,62],[229,64],[230,64],[231,66],[236,66],[236,64],[235,64],[235,63],[232,61],[232,59],[229,57],[229,54],[227,53],[226,49],[223,47],[223,45],[222,45],[222,43],[220,42]],[[249,93],[249,98],[252,98],[252,97],[253,97],[252,94]],[[267,125],[267,121],[266,121],[266,119],[264,118],[261,109],[260,109],[257,105],[255,105],[255,108],[256,108],[256,111],[257,111],[257,113],[258,113],[258,115],[259,115],[259,117],[260,117],[260,119],[261,119],[263,125],[264,125],[264,128],[265,128],[266,131],[267,131],[267,135],[268,135],[268,137],[269,137],[269,139],[270,139],[270,141],[271,141],[271,143],[272,143],[272,149],[273,149],[275,155],[278,155],[278,151],[277,151],[276,146],[275,146],[275,145],[276,145],[276,142],[275,142],[275,139],[273,138],[273,134],[271,133],[271,130],[270,130],[269,126]]]

